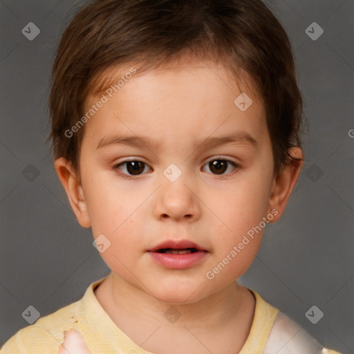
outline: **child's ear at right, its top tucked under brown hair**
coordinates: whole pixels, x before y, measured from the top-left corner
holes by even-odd
[[[272,209],[276,209],[278,214],[274,214],[274,218],[270,223],[275,223],[281,218],[304,163],[302,161],[304,157],[299,147],[292,147],[288,152],[290,156],[301,160],[289,158],[288,165],[284,166],[279,171],[278,176],[274,177],[267,212],[269,214]]]

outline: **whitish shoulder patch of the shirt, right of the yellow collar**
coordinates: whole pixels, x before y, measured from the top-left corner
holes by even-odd
[[[263,354],[339,354],[319,344],[303,327],[279,312]]]

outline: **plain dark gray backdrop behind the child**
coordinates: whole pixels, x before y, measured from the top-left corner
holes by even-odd
[[[353,353],[354,3],[268,3],[295,50],[308,118],[306,162],[285,214],[265,229],[241,282],[322,344]],[[50,66],[76,6],[0,1],[0,346],[28,326],[28,306],[53,313],[109,272],[91,230],[71,211],[46,145]],[[314,21],[324,30],[316,41],[305,32]],[[29,22],[41,31],[32,41],[21,32]],[[305,316],[313,305],[324,313],[317,324]]]

